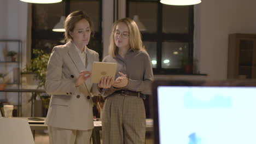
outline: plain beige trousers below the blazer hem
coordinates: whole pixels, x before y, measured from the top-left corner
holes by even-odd
[[[71,130],[48,126],[50,144],[89,144],[92,130]]]

